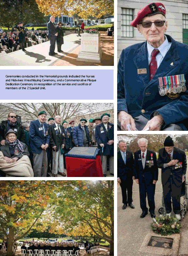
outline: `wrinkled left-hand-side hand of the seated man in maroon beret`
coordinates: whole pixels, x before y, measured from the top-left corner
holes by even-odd
[[[127,125],[130,124],[131,128],[133,131],[135,131],[136,126],[134,123],[134,119],[131,115],[129,115],[127,112],[125,111],[119,111],[119,113],[117,114],[117,118],[121,124],[121,130],[122,131],[127,131]]]

